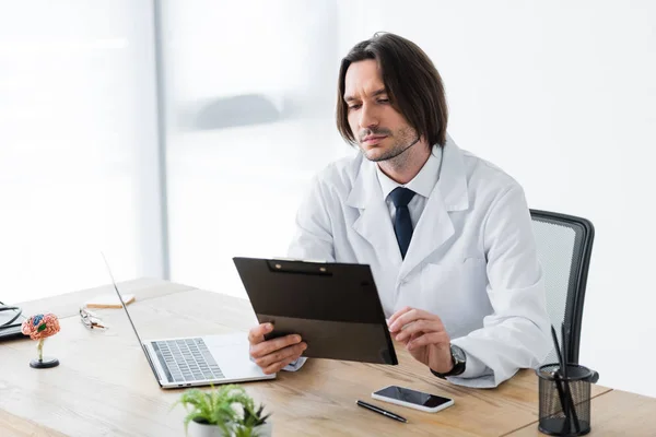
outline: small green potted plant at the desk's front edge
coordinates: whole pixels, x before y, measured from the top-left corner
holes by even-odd
[[[192,437],[270,437],[270,414],[255,406],[253,398],[237,385],[212,387],[209,391],[190,389],[174,404],[187,411],[185,433]]]

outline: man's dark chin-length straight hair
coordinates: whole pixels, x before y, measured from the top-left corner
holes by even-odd
[[[349,126],[344,80],[351,63],[366,59],[377,62],[393,107],[427,140],[429,146],[444,145],[448,109],[442,78],[417,44],[390,33],[377,33],[373,38],[356,44],[341,61],[337,86],[337,129],[342,138],[351,144],[358,142],[356,132],[351,132]]]

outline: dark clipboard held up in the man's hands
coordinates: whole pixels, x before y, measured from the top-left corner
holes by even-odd
[[[233,258],[266,339],[300,334],[303,356],[397,365],[368,264]]]

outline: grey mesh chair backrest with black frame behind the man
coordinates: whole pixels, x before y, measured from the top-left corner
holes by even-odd
[[[585,286],[595,227],[582,217],[530,210],[538,259],[547,291],[547,311],[559,342],[565,322],[570,363],[578,363]],[[558,363],[552,350],[544,363]]]

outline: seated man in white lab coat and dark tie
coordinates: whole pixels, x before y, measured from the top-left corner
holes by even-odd
[[[290,257],[370,264],[393,338],[437,377],[495,387],[539,365],[549,319],[523,189],[447,135],[429,57],[394,34],[358,44],[337,125],[362,153],[317,176]],[[271,329],[250,330],[250,355],[266,373],[291,369],[306,344],[263,341]]]

